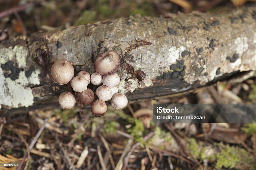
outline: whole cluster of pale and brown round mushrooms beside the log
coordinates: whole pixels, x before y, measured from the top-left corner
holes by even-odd
[[[74,77],[74,68],[67,60],[57,60],[51,68],[52,80],[59,84],[68,84],[75,91],[65,91],[59,96],[59,105],[62,109],[72,109],[76,104],[76,99],[83,104],[91,104],[93,116],[101,117],[107,111],[106,101],[111,100],[111,105],[115,109],[124,109],[128,100],[124,94],[118,93],[120,77],[116,72],[120,66],[120,59],[115,51],[106,51],[95,58],[94,70],[90,75],[86,71],[80,71]],[[98,97],[94,100],[94,93],[87,88],[89,84],[99,86],[95,94]]]

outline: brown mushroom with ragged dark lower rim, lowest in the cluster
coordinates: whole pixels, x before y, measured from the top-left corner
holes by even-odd
[[[95,117],[101,117],[107,112],[107,105],[102,100],[96,100],[91,104],[91,112]]]

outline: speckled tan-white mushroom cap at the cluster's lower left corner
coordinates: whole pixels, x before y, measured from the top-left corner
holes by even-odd
[[[72,109],[76,104],[76,96],[69,91],[64,91],[59,96],[59,105],[62,109]]]

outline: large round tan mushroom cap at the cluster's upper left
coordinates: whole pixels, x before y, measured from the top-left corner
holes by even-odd
[[[67,84],[74,73],[72,64],[67,60],[57,60],[51,67],[51,79],[58,85]]]

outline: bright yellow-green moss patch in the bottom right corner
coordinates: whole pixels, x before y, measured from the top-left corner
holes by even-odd
[[[217,153],[217,163],[215,164],[216,169],[233,168],[235,166],[248,167],[253,165],[250,158],[250,154],[242,148],[224,145],[220,143],[221,152]]]

